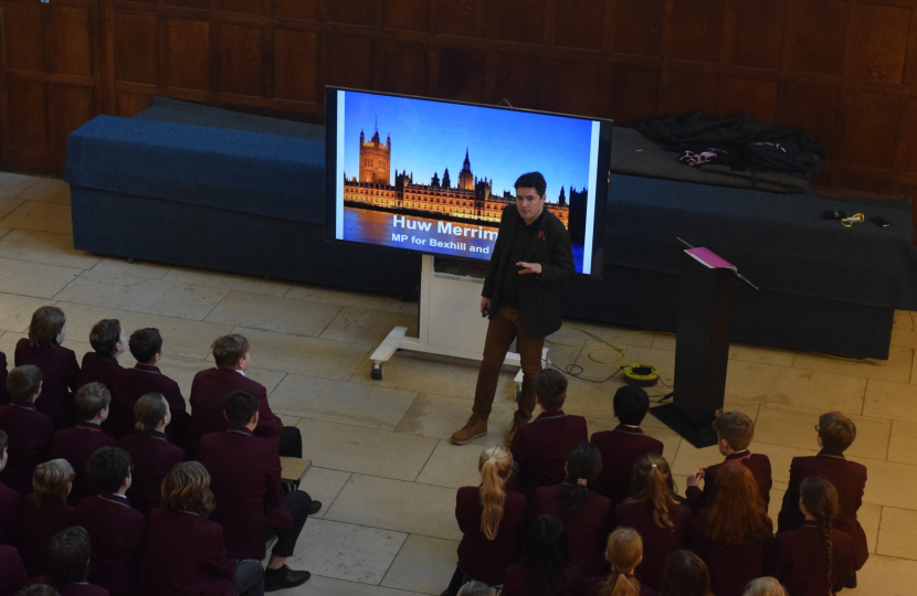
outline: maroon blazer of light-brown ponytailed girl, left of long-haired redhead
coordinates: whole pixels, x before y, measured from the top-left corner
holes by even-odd
[[[673,528],[660,528],[653,521],[653,503],[621,503],[614,508],[614,521],[618,526],[633,528],[643,538],[643,561],[634,575],[641,584],[653,589],[662,589],[662,576],[668,555],[691,544],[694,531],[694,513],[691,508],[671,503],[668,521]]]

